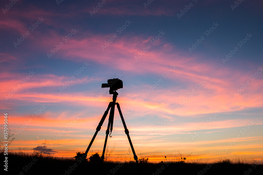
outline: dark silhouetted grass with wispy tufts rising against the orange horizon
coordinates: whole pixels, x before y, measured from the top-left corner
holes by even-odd
[[[190,154],[191,155],[191,154]],[[4,155],[0,154],[1,160]],[[143,158],[143,157],[142,157]],[[184,159],[185,158],[185,159]],[[32,166],[33,160],[37,160]],[[180,153],[169,159],[164,156],[163,162],[140,161],[140,167],[145,175],[152,174],[244,174],[252,169],[250,174],[261,174],[263,171],[262,160],[248,163],[246,160],[235,156],[235,159],[220,158],[211,164],[202,162],[202,159],[188,160],[188,156]],[[74,164],[77,167],[74,167]],[[208,166],[210,165],[210,167]],[[252,166],[254,165],[254,167]],[[27,168],[27,167],[28,168]],[[31,167],[29,167],[31,166]],[[256,167],[255,167],[256,166]],[[74,169],[72,171],[71,169]],[[209,168],[209,169],[208,169]],[[134,160],[108,161],[101,166],[99,162],[79,162],[74,157],[53,157],[42,152],[33,153],[8,152],[8,174],[139,174]],[[70,173],[68,173],[70,172]],[[68,174],[67,174],[68,173]]]

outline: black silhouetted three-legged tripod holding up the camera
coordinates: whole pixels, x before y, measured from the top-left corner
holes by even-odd
[[[94,136],[92,137],[90,143],[89,143],[89,146],[85,152],[85,156],[87,157],[87,154],[89,152],[89,149],[93,143],[93,141],[95,140],[95,137],[97,136],[98,132],[100,131],[101,129],[101,126],[107,116],[107,114],[109,113],[109,110],[110,110],[110,115],[109,115],[109,122],[108,122],[108,127],[107,127],[107,130],[106,130],[106,137],[105,137],[105,142],[104,142],[104,147],[103,147],[103,152],[102,152],[102,156],[101,156],[101,161],[103,162],[104,161],[104,154],[105,154],[105,149],[106,149],[106,144],[107,144],[107,140],[108,140],[108,135],[110,135],[112,133],[112,128],[113,128],[113,118],[114,118],[114,108],[115,108],[115,104],[117,105],[117,108],[119,110],[119,113],[120,113],[120,118],[122,119],[122,123],[123,123],[123,126],[124,126],[124,129],[125,129],[125,134],[127,135],[128,137],[128,140],[130,142],[130,146],[131,146],[131,150],[133,152],[133,157],[134,157],[134,160],[136,161],[136,164],[139,168],[139,171],[140,171],[140,174],[141,173],[141,168],[140,168],[140,165],[139,165],[139,162],[138,162],[138,157],[136,156],[135,154],[135,151],[134,151],[134,148],[133,148],[133,145],[131,143],[131,139],[130,139],[130,135],[129,135],[129,130],[127,129],[127,126],[125,124],[125,121],[124,121],[124,118],[123,118],[123,115],[122,115],[122,111],[120,110],[120,105],[119,103],[116,103],[116,99],[117,99],[117,96],[118,96],[118,93],[116,91],[113,92],[113,97],[112,97],[112,102],[109,103],[108,105],[108,108],[107,110],[104,112],[103,116],[102,116],[102,119],[100,120],[97,128],[96,128],[96,132],[94,134]],[[110,134],[109,134],[110,132]],[[112,137],[112,136],[110,136]]]

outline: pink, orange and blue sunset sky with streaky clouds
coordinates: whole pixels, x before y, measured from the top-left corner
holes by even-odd
[[[31,151],[46,140],[55,156],[85,152],[112,101],[101,84],[119,78],[117,102],[138,157],[263,154],[262,1],[14,2],[0,2],[9,149]],[[108,147],[115,144],[113,160],[128,160],[115,109]]]

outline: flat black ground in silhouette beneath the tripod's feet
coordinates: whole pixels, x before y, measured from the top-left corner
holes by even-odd
[[[4,155],[0,155],[2,164]],[[80,164],[74,158],[54,158],[42,155],[18,155],[8,154],[8,172],[3,174],[28,175],[28,174],[102,174],[102,175],[129,175],[140,174],[134,162],[118,163],[108,162],[100,166],[99,162],[84,161]],[[74,164],[76,167],[74,167]],[[71,168],[70,168],[71,167]],[[164,162],[164,163],[140,163],[144,175],[163,175],[163,174],[231,174],[231,175],[253,175],[262,174],[263,165],[212,163],[196,164],[184,162]],[[2,166],[3,168],[3,166]],[[3,168],[4,169],[4,168]],[[71,169],[74,169],[73,171]],[[1,173],[2,174],[2,173]]]

